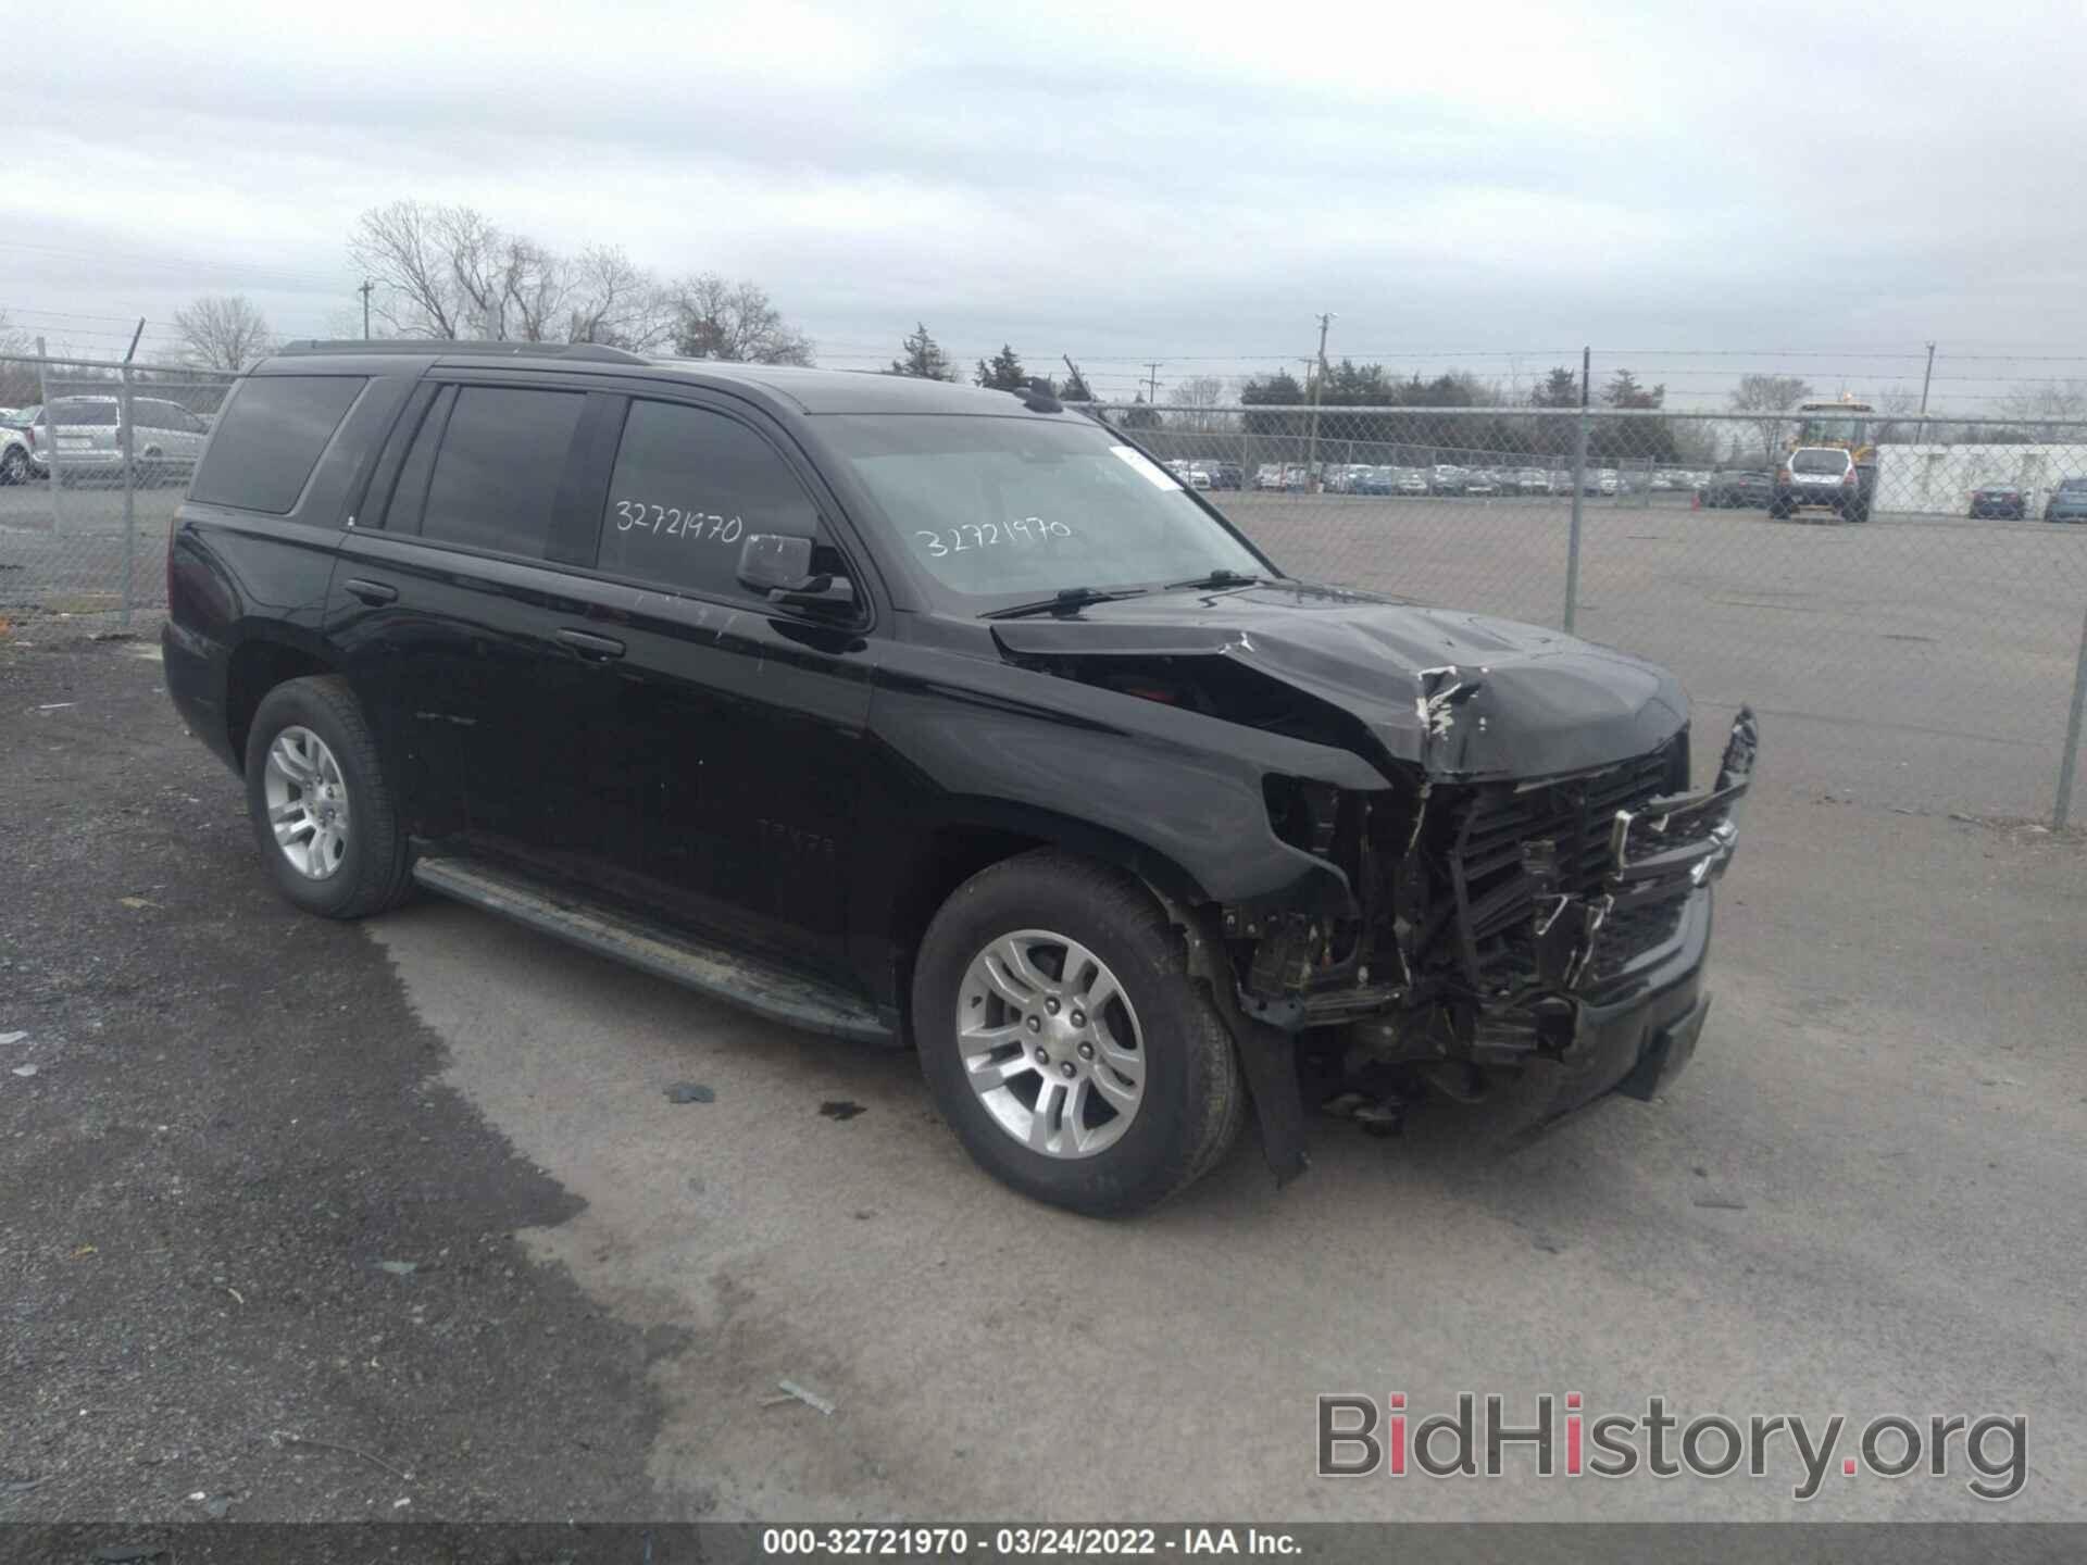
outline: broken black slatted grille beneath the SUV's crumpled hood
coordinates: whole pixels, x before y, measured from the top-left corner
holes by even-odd
[[[1450,883],[1459,887],[1465,977],[1488,993],[1536,979],[1536,881],[1524,870],[1524,843],[1557,845],[1557,891],[1599,895],[1613,868],[1609,826],[1615,812],[1672,793],[1674,785],[1670,747],[1661,747],[1601,772],[1471,789],[1446,849]],[[1659,943],[1661,931],[1657,918],[1628,918],[1605,929],[1594,972]]]

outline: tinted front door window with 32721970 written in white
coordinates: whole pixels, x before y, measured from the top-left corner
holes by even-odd
[[[739,545],[755,532],[824,543],[818,507],[783,457],[722,413],[630,403],[599,570],[755,601],[737,576]]]

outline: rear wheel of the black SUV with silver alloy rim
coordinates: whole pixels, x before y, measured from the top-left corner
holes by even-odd
[[[363,918],[411,891],[376,735],[338,676],[278,684],[246,732],[246,814],[275,889],[321,918]]]

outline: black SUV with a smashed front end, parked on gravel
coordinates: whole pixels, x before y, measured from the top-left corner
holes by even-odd
[[[301,344],[167,559],[167,689],[307,912],[415,885],[906,1041],[1010,1185],[1254,1114],[1536,1125],[1695,1048],[1755,728],[1624,653],[1284,576],[1041,384]]]

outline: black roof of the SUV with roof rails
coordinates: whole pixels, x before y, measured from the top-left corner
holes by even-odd
[[[1037,417],[1018,392],[981,390],[947,380],[885,376],[862,369],[797,369],[793,365],[724,363],[630,353],[595,342],[288,342],[255,365],[259,376],[309,376],[326,357],[349,374],[399,374],[401,361],[417,369],[497,359],[513,367],[599,369],[614,376],[687,380],[755,399],[787,403],[799,413],[985,413]]]

